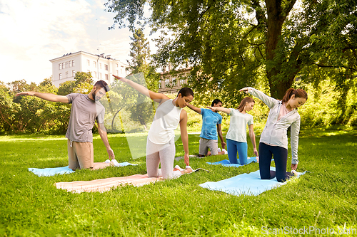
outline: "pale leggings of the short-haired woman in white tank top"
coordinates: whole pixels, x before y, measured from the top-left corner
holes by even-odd
[[[148,137],[146,142],[146,171],[148,176],[162,176],[164,179],[180,177],[180,171],[173,171],[175,153],[174,137],[166,144],[155,144]],[[161,164],[161,169],[159,169],[159,164]]]

